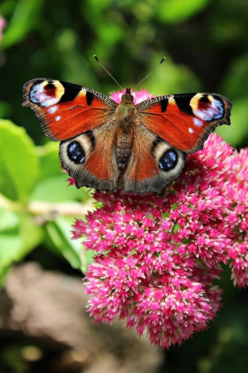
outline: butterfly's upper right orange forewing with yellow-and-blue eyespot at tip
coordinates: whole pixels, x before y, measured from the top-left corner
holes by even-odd
[[[230,125],[231,107],[226,97],[213,93],[158,96],[136,105],[147,129],[185,153],[202,149],[217,126]]]

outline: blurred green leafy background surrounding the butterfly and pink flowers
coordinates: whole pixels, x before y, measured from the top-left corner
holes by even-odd
[[[165,56],[140,88],[154,95],[225,95],[233,103],[232,125],[218,132],[234,147],[248,145],[247,0],[1,0],[0,15],[2,285],[14,262],[36,260],[80,278],[91,260],[70,241],[73,217],[91,206],[91,195],[67,188],[58,144],[44,138],[34,113],[21,107],[26,81],[62,79],[109,94],[117,86],[93,54],[122,87],[134,87]],[[220,287],[223,308],[210,329],[165,352],[157,372],[247,369],[247,291],[233,288],[228,269]],[[1,353],[3,346],[0,372],[33,372]]]

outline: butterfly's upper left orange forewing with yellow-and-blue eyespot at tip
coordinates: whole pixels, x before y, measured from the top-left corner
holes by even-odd
[[[103,93],[54,79],[38,78],[23,86],[22,106],[39,118],[43,133],[66,140],[109,120],[116,103]]]

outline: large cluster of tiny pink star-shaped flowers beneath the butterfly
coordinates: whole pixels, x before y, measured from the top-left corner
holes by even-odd
[[[247,285],[247,149],[238,153],[211,134],[162,196],[94,198],[102,207],[76,220],[73,238],[86,238],[95,253],[85,283],[95,321],[124,319],[169,348],[215,317],[222,264]]]

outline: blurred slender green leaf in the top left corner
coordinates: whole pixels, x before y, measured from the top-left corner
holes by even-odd
[[[41,16],[44,0],[18,0],[12,18],[4,31],[0,48],[9,48],[22,40]]]

